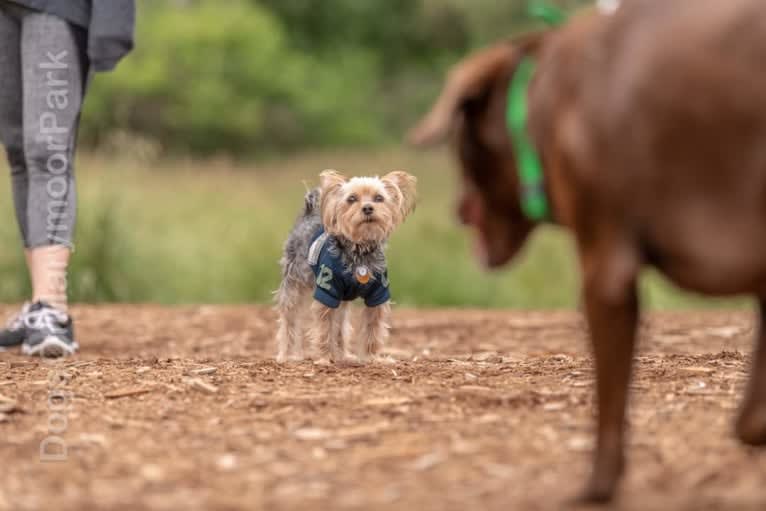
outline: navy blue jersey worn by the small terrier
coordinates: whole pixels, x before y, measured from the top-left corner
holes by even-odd
[[[383,305],[391,299],[388,272],[373,273],[366,282],[357,278],[343,263],[340,252],[333,250],[333,237],[323,227],[311,242],[308,262],[316,276],[314,299],[336,309],[341,302],[364,298],[367,307]]]

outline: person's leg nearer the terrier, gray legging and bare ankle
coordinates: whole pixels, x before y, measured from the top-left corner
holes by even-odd
[[[87,58],[85,34],[42,13],[22,18],[26,256],[33,301],[66,311],[74,234],[74,155]]]

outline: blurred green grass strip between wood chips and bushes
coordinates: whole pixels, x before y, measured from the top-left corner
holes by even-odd
[[[542,228],[516,263],[485,273],[453,214],[456,173],[443,153],[399,149],[320,152],[257,163],[142,160],[85,155],[72,299],[81,302],[269,302],[282,243],[317,174],[405,169],[418,176],[419,206],[392,237],[397,303],[407,306],[572,308],[579,303],[569,236]],[[123,154],[127,154],[123,153]],[[7,168],[0,163],[0,172]],[[0,302],[27,298],[29,283],[13,217],[9,179],[0,180]],[[741,307],[681,293],[647,272],[642,300],[653,308]]]

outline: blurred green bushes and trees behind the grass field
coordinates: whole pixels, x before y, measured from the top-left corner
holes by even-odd
[[[136,50],[97,76],[81,138],[256,157],[398,141],[451,63],[534,26],[526,9],[527,0],[139,0]]]

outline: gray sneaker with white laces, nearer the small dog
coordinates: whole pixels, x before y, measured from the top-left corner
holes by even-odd
[[[25,355],[58,358],[73,355],[80,346],[74,340],[72,318],[45,302],[37,302],[24,315]]]

